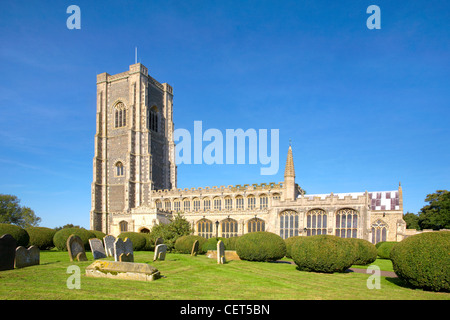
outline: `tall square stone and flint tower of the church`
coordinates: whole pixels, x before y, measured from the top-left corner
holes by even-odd
[[[152,190],[177,186],[172,87],[140,63],[99,74],[96,122],[91,229],[109,233],[135,212],[158,219]]]

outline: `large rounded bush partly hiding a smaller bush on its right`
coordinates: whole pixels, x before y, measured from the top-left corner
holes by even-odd
[[[331,235],[300,237],[291,247],[291,256],[299,270],[344,272],[353,264],[355,246]]]

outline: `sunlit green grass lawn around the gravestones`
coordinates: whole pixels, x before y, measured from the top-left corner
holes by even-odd
[[[449,293],[407,288],[395,278],[381,277],[381,289],[369,290],[366,282],[370,274],[302,272],[288,263],[230,261],[218,265],[204,255],[170,253],[165,261],[153,262],[153,252],[146,251],[135,252],[135,262],[149,263],[164,278],[153,282],[89,278],[85,268],[93,258],[90,252],[87,256],[90,261],[70,262],[67,252],[42,251],[38,266],[1,271],[0,299],[450,300]],[[385,261],[376,263],[388,268]],[[66,286],[71,275],[66,270],[73,264],[81,269],[79,290]]]

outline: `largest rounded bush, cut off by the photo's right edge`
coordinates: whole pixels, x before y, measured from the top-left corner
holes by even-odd
[[[450,232],[417,234],[395,245],[390,254],[397,276],[432,291],[450,291]]]

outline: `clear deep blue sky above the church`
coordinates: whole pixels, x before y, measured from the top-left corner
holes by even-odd
[[[69,30],[66,9],[81,9]],[[366,9],[381,9],[369,30]],[[280,130],[280,170],[180,165],[178,187],[395,190],[417,213],[450,181],[445,1],[3,1],[0,193],[41,226],[89,227],[96,75],[138,60],[174,87],[176,128]]]

